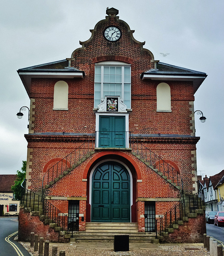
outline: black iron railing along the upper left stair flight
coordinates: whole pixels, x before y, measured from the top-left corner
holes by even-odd
[[[77,164],[81,158],[84,158],[90,151],[93,151],[93,136],[91,140],[81,144],[81,146],[73,150],[70,154],[47,170],[42,179],[42,188],[44,188],[45,179],[45,185],[50,184],[50,182],[54,181],[55,178],[58,178],[60,174],[73,168],[73,166],[75,166],[75,164]]]

